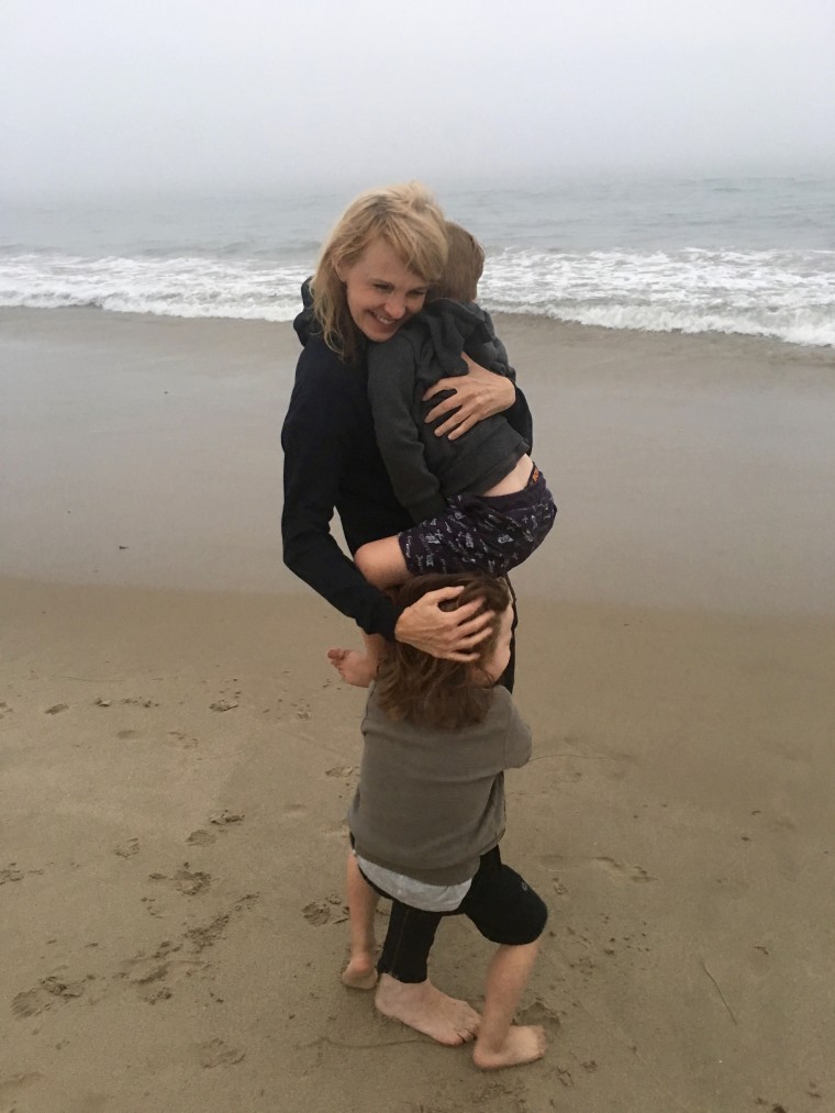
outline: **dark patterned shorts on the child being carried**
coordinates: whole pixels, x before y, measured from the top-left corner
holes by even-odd
[[[534,467],[522,491],[453,495],[442,514],[404,530],[397,541],[412,575],[507,575],[544,541],[556,516],[544,476]]]

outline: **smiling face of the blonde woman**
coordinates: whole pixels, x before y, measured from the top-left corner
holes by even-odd
[[[384,239],[374,239],[350,267],[337,267],[345,284],[348,312],[360,329],[377,344],[423,308],[429,283],[410,270]]]

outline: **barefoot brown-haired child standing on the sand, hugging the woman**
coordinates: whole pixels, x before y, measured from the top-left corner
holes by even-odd
[[[504,769],[523,766],[531,752],[530,728],[510,693],[492,687],[510,656],[510,592],[501,580],[473,573],[425,575],[407,581],[397,601],[409,605],[426,591],[461,584],[451,605],[482,600],[494,620],[478,661],[443,660],[397,643],[369,695],[360,785],[348,810],[355,865],[343,981],[361,988],[374,984],[367,925],[374,892],[390,897],[376,964],[377,1009],[439,1043],[475,1036],[475,1065],[494,1070],[540,1058],[546,1047],[541,1027],[512,1020],[548,910],[499,853]],[[499,944],[481,1018],[428,976],[435,932],[450,915],[468,916]]]

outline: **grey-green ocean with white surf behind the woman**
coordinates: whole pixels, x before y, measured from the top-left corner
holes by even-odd
[[[835,179],[438,189],[491,312],[835,346]],[[292,321],[353,190],[2,204],[0,305]]]

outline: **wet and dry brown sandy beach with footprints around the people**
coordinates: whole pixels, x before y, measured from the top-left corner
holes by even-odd
[[[340,983],[364,695],[281,563],[292,327],[0,311],[0,1113],[835,1109],[835,354],[495,323],[560,508],[503,844],[546,1058]],[[433,978],[489,954],[449,922]]]

